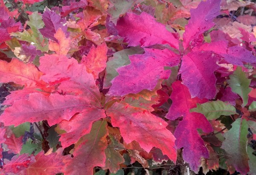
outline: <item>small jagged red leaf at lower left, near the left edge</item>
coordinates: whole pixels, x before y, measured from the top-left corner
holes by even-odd
[[[3,118],[2,115],[1,115],[1,118]],[[10,152],[14,154],[20,154],[20,151],[23,145],[22,143],[23,137],[16,138],[15,135],[12,134],[10,137],[6,136],[5,138],[6,138],[6,141],[4,143],[8,146],[8,149],[10,150]]]

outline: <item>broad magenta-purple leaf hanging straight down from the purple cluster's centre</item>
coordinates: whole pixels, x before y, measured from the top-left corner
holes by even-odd
[[[217,57],[212,52],[189,52],[182,58],[180,74],[182,83],[192,96],[212,99],[216,95],[214,71],[218,68]]]

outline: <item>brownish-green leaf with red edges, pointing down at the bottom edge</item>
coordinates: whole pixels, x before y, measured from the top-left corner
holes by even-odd
[[[105,166],[105,152],[108,143],[107,122],[103,120],[93,123],[89,134],[84,135],[75,144],[73,158],[67,163],[64,173],[84,175],[93,174],[94,166]]]

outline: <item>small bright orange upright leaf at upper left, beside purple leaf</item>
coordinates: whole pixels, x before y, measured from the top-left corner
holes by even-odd
[[[49,40],[49,49],[55,51],[57,55],[67,55],[70,49],[70,39],[65,37],[61,28],[54,34],[57,41]]]

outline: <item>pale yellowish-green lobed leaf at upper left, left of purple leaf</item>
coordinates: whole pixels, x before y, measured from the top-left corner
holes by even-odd
[[[44,27],[41,14],[34,12],[29,15],[29,21],[27,22],[30,29],[24,30],[23,32],[12,33],[12,36],[18,37],[19,40],[28,41],[32,43],[38,50],[42,52],[48,52],[48,40],[44,38],[38,29]]]

